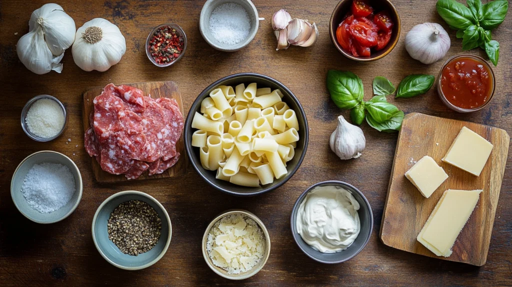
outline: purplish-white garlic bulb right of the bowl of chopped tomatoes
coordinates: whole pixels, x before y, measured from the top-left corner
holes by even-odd
[[[437,23],[423,23],[406,35],[406,50],[413,59],[431,64],[442,59],[450,49],[450,36]]]

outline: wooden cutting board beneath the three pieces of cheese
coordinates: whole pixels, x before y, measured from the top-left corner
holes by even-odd
[[[475,131],[494,145],[478,177],[441,161],[463,126]],[[398,135],[388,195],[380,225],[382,242],[400,250],[439,259],[476,266],[485,264],[509,143],[510,138],[506,131],[496,127],[419,113],[407,115],[403,119]],[[404,176],[404,173],[423,156],[431,156],[449,175],[449,178],[429,198],[423,197]],[[480,194],[477,207],[455,241],[453,254],[446,258],[436,256],[426,249],[416,240],[416,236],[447,189],[483,189],[483,192]]]

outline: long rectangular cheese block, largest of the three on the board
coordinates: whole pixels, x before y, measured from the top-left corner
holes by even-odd
[[[416,239],[437,256],[449,257],[482,190],[446,190]]]

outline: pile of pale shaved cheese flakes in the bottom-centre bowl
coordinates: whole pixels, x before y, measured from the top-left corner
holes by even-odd
[[[265,237],[254,220],[242,214],[227,215],[210,229],[206,251],[215,266],[239,274],[261,261]]]

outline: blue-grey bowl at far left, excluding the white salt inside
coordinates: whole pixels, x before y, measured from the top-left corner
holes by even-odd
[[[71,197],[71,200],[65,206],[50,213],[40,213],[30,207],[22,192],[25,176],[34,164],[41,163],[58,163],[65,165],[69,168],[75,178],[76,190]],[[64,154],[51,150],[41,150],[30,154],[30,156],[26,157],[19,163],[18,167],[16,167],[11,180],[11,196],[16,208],[28,219],[42,224],[59,222],[73,213],[82,198],[82,189],[82,176],[76,164]]]

